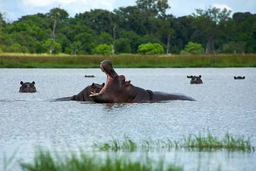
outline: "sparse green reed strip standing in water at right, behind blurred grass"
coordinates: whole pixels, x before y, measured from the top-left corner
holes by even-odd
[[[250,137],[244,140],[244,136],[231,136],[226,133],[224,138],[218,139],[212,136],[210,133],[207,136],[202,136],[199,133],[198,136],[190,134],[187,138],[183,137],[180,141],[167,141],[163,140],[143,140],[140,143],[136,143],[131,140],[128,136],[124,136],[123,141],[113,139],[111,143],[106,142],[95,142],[94,148],[102,151],[136,151],[138,149],[148,150],[148,149],[160,149],[160,148],[186,148],[186,149],[198,149],[199,151],[212,151],[218,149],[226,149],[228,151],[247,151],[254,152],[255,149],[250,143]]]

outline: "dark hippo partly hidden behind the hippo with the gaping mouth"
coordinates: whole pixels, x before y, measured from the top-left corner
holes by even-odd
[[[99,93],[100,90],[105,86],[105,83],[103,84],[96,84],[93,83],[87,87],[84,88],[80,93],[77,95],[74,95],[72,97],[63,97],[59,99],[54,99],[54,101],[91,101],[89,98],[90,92],[92,93]]]

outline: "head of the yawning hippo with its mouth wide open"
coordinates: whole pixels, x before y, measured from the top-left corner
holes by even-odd
[[[126,101],[125,92],[129,91],[131,81],[125,81],[124,75],[118,75],[113,69],[111,61],[102,61],[100,69],[107,75],[107,81],[99,93],[92,93],[89,96],[90,99],[96,103],[116,103],[116,97],[118,97],[118,101]]]

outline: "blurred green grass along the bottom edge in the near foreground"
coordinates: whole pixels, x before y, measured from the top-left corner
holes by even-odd
[[[80,154],[52,154],[49,150],[38,148],[34,161],[20,162],[23,171],[182,171],[180,166],[169,165],[164,169],[163,159],[154,166],[151,159],[132,161],[128,157],[111,157],[102,159],[96,155],[88,155],[80,150]]]

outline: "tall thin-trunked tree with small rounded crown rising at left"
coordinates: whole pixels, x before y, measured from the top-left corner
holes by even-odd
[[[50,54],[52,54],[56,26],[59,22],[64,22],[68,16],[69,14],[67,13],[67,11],[64,9],[60,9],[60,6],[58,8],[51,9],[50,12],[47,13],[47,17],[50,18],[51,22],[53,22],[50,43]]]

